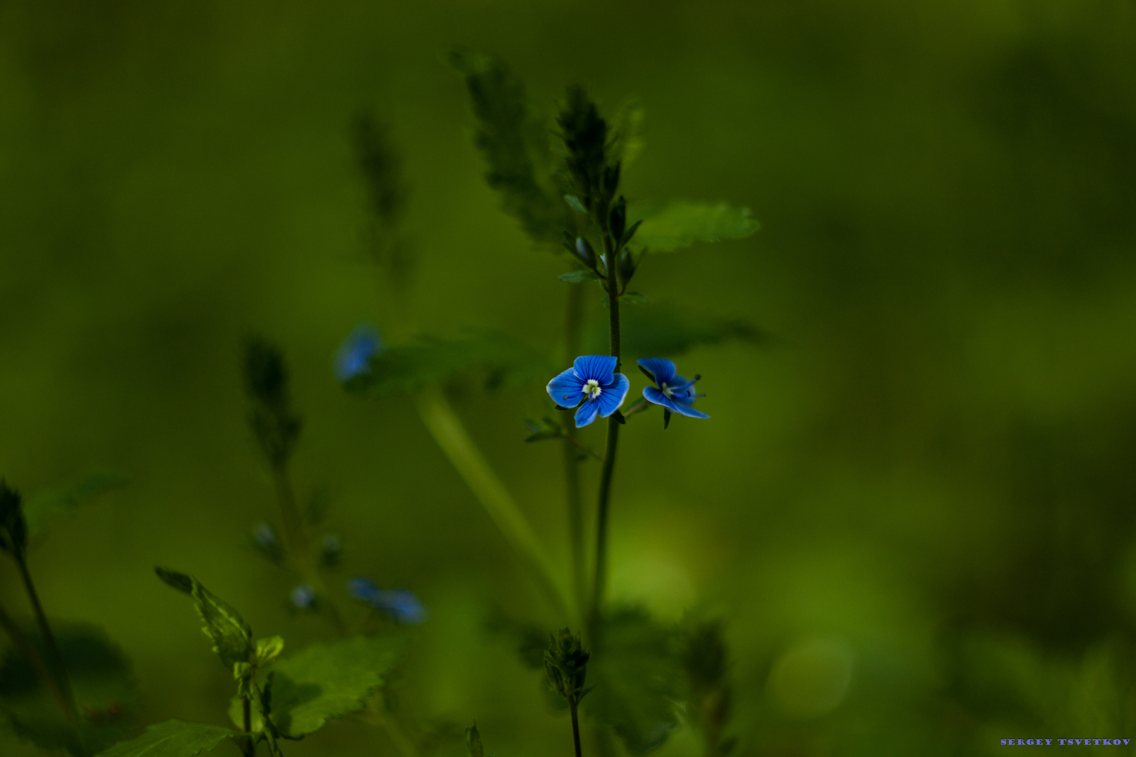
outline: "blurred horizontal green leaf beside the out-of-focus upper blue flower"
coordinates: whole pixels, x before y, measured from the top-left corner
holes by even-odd
[[[498,332],[461,338],[421,339],[371,358],[370,371],[344,386],[365,397],[412,392],[473,369],[484,372],[486,389],[527,386],[554,371],[542,352]]]

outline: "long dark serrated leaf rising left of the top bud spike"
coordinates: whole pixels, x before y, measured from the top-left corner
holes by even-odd
[[[534,242],[557,244],[574,222],[551,181],[546,127],[533,116],[524,85],[495,58],[454,51],[450,63],[466,80],[486,183]]]

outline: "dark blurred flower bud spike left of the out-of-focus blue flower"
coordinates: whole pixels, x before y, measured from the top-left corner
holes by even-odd
[[[249,425],[273,466],[287,460],[300,435],[300,418],[289,406],[287,366],[281,349],[261,336],[244,342],[244,390],[252,401]]]

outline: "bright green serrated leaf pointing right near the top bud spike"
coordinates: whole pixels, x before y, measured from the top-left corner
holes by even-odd
[[[680,250],[695,242],[742,239],[760,226],[749,208],[725,202],[670,202],[636,215],[644,222],[635,239],[653,252]]]

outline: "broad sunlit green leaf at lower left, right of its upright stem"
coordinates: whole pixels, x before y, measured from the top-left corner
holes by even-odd
[[[274,666],[272,719],[285,739],[299,739],[324,727],[328,719],[364,708],[402,660],[407,637],[354,637],[311,644]],[[229,716],[240,724],[241,700],[233,699]],[[253,731],[264,722],[253,717]]]

